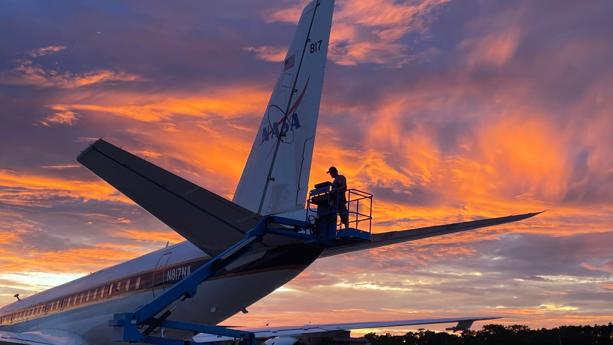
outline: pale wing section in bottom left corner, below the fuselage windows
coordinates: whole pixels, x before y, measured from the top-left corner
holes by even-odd
[[[0,331],[0,345],[85,345],[82,336],[66,330],[14,333]]]

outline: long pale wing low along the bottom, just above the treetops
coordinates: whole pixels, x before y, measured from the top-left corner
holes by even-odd
[[[265,327],[232,327],[237,330],[250,331],[256,334],[256,338],[272,338],[273,336],[293,336],[307,333],[320,333],[326,331],[339,330],[359,330],[365,328],[416,326],[432,324],[458,323],[457,327],[450,330],[463,330],[470,328],[474,321],[501,319],[500,316],[484,317],[451,317],[447,319],[420,319],[420,320],[396,320],[396,321],[374,321],[374,322],[350,322],[348,324],[321,324],[321,325],[294,325],[294,326],[265,326]],[[196,343],[211,343],[213,341],[227,341],[233,338],[227,336],[216,336],[207,333],[200,333],[194,336]]]

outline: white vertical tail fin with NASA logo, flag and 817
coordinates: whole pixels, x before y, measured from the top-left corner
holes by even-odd
[[[300,15],[232,199],[253,212],[305,206],[333,9],[314,0]]]

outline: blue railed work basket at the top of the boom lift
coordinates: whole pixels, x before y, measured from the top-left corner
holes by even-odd
[[[343,198],[345,193],[345,198]],[[346,211],[339,203],[346,200]],[[307,201],[307,222],[315,225],[331,246],[347,246],[370,241],[373,195],[357,189],[339,192],[337,186],[326,181],[314,185]],[[343,215],[348,219],[349,227],[341,222]]]

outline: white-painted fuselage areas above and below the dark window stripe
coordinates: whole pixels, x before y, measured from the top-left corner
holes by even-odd
[[[15,301],[0,309],[0,314],[17,311],[26,306],[36,305],[54,298],[60,298],[70,293],[89,289],[105,282],[117,281],[123,277],[135,276],[141,272],[151,271],[164,254],[170,254],[167,266],[176,263],[190,262],[194,260],[207,260],[209,257],[185,241],[173,246],[166,247],[142,257],[137,257],[128,262],[120,263],[88,276],[76,279],[58,287],[36,293],[21,301]],[[262,253],[245,255],[241,259],[242,264],[257,260]],[[186,300],[172,312],[171,319],[183,322],[195,322],[198,324],[216,325],[228,317],[242,311],[255,303],[268,293],[291,281],[295,276],[306,268],[282,266],[273,269],[254,271],[246,274],[230,274],[229,276],[217,277],[203,282],[198,287],[194,298]],[[172,273],[165,272],[167,279],[181,279],[191,273],[188,265],[181,265],[172,269]],[[169,276],[168,274],[171,274]],[[131,283],[131,287],[134,287]],[[131,312],[142,304],[148,303],[153,298],[152,287],[140,286],[140,292],[131,293],[120,298],[98,298],[95,303],[88,303],[82,307],[67,308],[61,312],[37,316],[32,319],[10,325],[3,325],[0,330],[23,333],[48,329],[61,329],[72,331],[82,335],[88,344],[111,344],[109,320],[117,312]],[[177,334],[175,333],[175,336]],[[188,338],[191,335],[186,335]]]

